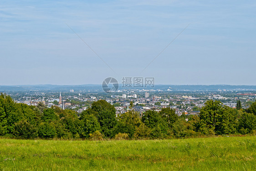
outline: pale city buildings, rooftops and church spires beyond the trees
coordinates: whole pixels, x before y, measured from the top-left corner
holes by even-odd
[[[31,94],[28,94],[29,96],[18,98],[15,101],[27,105],[37,105],[39,102],[42,102],[48,107],[59,106],[62,109],[72,109],[81,113],[86,110],[93,101],[104,99],[115,106],[117,115],[129,110],[138,111],[143,115],[145,111],[160,111],[162,108],[166,107],[175,109],[177,115],[195,115],[199,113],[200,108],[204,106],[207,100],[222,101],[224,105],[235,108],[237,100],[242,100],[245,104],[247,101],[254,101],[256,99],[253,93],[240,93],[237,94],[237,97],[230,97],[221,93],[195,93],[195,96],[193,96],[193,93],[174,94],[170,91],[165,91],[166,93],[152,92],[153,93],[145,91],[143,93],[139,92],[138,94],[130,92],[106,96],[105,94],[98,93],[77,93],[71,89],[69,93],[65,92],[64,97],[61,96],[61,92],[58,98],[56,98],[56,94],[54,95],[53,93],[36,92],[36,98],[32,98],[32,100]],[[71,101],[73,101],[73,103]],[[84,103],[79,104],[74,103],[74,101]],[[130,104],[131,101],[133,101],[133,106]],[[87,102],[87,105],[84,105],[85,102]]]

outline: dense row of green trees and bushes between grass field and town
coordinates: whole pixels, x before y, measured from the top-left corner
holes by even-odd
[[[116,116],[113,105],[100,100],[83,111],[28,106],[0,95],[0,136],[16,138],[141,139],[180,138],[208,135],[249,134],[256,131],[256,102],[247,109],[232,109],[220,101],[207,101],[200,114],[177,116],[174,109],[133,110]]]

